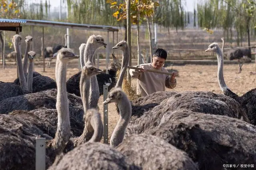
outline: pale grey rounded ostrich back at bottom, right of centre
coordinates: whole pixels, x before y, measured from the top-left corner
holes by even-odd
[[[116,150],[145,170],[198,170],[186,152],[152,135],[132,135]]]

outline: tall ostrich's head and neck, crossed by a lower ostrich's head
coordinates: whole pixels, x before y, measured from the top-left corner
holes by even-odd
[[[106,47],[106,43],[104,43],[104,39],[100,35],[91,35],[87,42],[84,49],[84,63],[88,65],[95,66],[95,56],[94,53],[99,47]],[[96,78],[96,75],[92,76],[90,78],[90,97],[89,97],[89,103],[90,108],[97,108],[98,106],[98,100],[100,97],[100,92],[98,88],[98,81]],[[92,86],[94,84],[94,86]]]

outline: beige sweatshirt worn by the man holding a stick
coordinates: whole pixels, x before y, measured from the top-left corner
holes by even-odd
[[[136,67],[140,68],[146,68],[151,70],[159,70],[159,71],[165,71],[166,68],[162,67],[160,69],[154,68],[151,63],[147,64],[140,64]],[[149,94],[152,94],[154,92],[158,91],[165,91],[165,87],[167,88],[175,88],[176,86],[176,79],[174,83],[171,83],[171,76],[168,74],[161,74],[157,72],[138,72],[138,70],[130,69],[129,70],[130,75],[132,78],[138,78],[138,93],[142,93],[142,96],[147,96]]]

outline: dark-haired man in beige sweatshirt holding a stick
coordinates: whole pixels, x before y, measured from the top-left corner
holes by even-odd
[[[158,48],[153,55],[153,62],[147,64],[140,64],[136,67],[143,68],[143,70],[130,69],[129,73],[132,78],[138,78],[138,93],[142,96],[147,96],[157,91],[165,91],[166,88],[175,88],[177,72],[172,72],[173,75],[161,74],[156,72],[148,72],[147,69],[159,70],[168,72],[163,67],[167,58],[167,52],[164,49]]]

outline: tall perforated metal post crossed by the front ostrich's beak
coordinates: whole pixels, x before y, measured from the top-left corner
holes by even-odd
[[[105,101],[108,98],[108,86],[103,85],[103,100]],[[108,144],[108,104],[103,105],[103,141]]]

